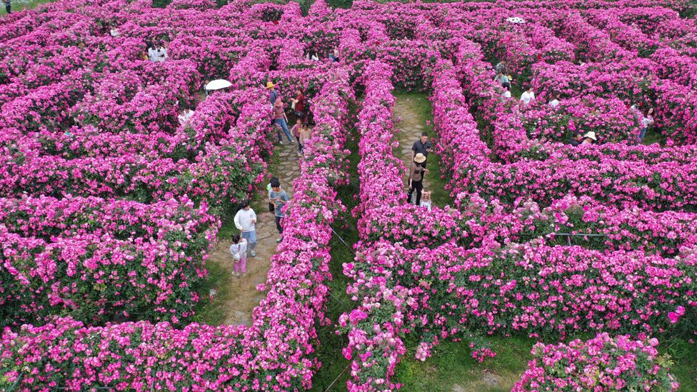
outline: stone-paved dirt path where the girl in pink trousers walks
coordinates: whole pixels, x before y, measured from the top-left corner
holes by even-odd
[[[283,146],[276,144],[274,148],[274,156],[271,158],[270,175],[279,177],[281,187],[286,190],[288,196],[293,198],[293,180],[299,176],[299,156],[297,154],[298,144],[294,141],[293,144],[287,144],[284,137]],[[276,171],[276,172],[275,172]],[[266,281],[266,275],[271,267],[271,256],[276,253],[276,238],[279,238],[279,232],[276,231],[276,223],[274,221],[274,213],[269,212],[266,208],[266,184],[263,184],[263,189],[259,190],[257,198],[262,201],[263,208],[258,206],[255,208],[256,222],[256,256],[247,255],[247,274],[246,276],[237,278],[230,276],[229,286],[226,287],[224,298],[221,299],[226,325],[251,325],[251,313],[254,307],[259,305],[266,293],[256,291],[256,286]],[[256,203],[259,205],[259,203]],[[253,204],[254,206],[254,204]],[[260,211],[261,209],[261,211]],[[234,231],[237,233],[238,231]],[[214,251],[207,263],[216,263],[223,267],[226,273],[232,273],[232,256],[229,248],[232,243],[229,236],[218,238]]]

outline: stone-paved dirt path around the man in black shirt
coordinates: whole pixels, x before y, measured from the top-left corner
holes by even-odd
[[[428,104],[428,98],[425,95],[417,94],[397,95],[394,103],[394,116],[397,119],[401,119],[396,124],[397,141],[399,142],[396,156],[402,159],[407,169],[404,174],[405,192],[409,184],[408,168],[411,164],[411,146],[421,137],[421,132],[424,131],[428,133],[429,140],[433,142],[433,126],[426,125],[426,116],[421,112],[423,105],[426,104]],[[429,173],[423,177],[423,191],[433,191],[432,179],[436,175],[436,171],[433,170],[433,157],[434,154],[432,152],[428,154],[426,169],[429,169]]]

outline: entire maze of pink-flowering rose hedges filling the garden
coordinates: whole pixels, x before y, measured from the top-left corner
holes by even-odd
[[[399,388],[408,336],[423,361],[445,340],[578,332],[596,338],[539,343],[514,389],[675,390],[656,346],[697,331],[694,11],[684,0],[317,0],[307,14],[294,2],[69,0],[7,16],[0,388],[299,391],[321,366],[321,327],[346,336],[336,351],[351,361],[350,391]],[[153,40],[167,61],[144,59]],[[501,59],[536,91],[531,104],[502,95]],[[229,91],[203,99],[220,78]],[[285,104],[306,91],[316,126],[258,287],[266,298],[251,326],[193,323],[219,228],[274,154],[268,80]],[[431,99],[451,206],[402,200],[393,89]],[[636,143],[634,104],[655,109],[661,144]],[[196,110],[182,126],[184,105]],[[343,270],[355,307],[329,320],[354,126],[360,241]],[[569,146],[573,131],[598,144]]]

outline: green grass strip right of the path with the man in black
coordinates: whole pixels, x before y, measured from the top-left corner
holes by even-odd
[[[394,96],[397,100],[411,100],[411,108],[421,119],[420,123],[423,124],[423,131],[428,133],[428,135],[434,136],[434,138],[431,138],[434,145],[438,143],[438,135],[433,130],[433,113],[431,113],[431,101],[428,101],[428,94],[400,91],[396,92]],[[426,121],[430,121],[431,125],[426,125]],[[450,177],[445,175],[446,171],[443,170],[444,168],[441,165],[441,158],[436,154],[429,154],[427,169],[430,171],[426,176],[428,176],[432,184],[432,189],[429,190],[433,192],[431,194],[433,205],[441,207],[448,204],[451,205],[453,199],[445,189],[446,184],[450,181]]]

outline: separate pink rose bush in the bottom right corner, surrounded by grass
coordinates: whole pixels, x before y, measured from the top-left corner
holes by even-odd
[[[589,341],[533,347],[535,356],[512,391],[677,391],[672,362],[659,356],[658,340],[598,333]]]

